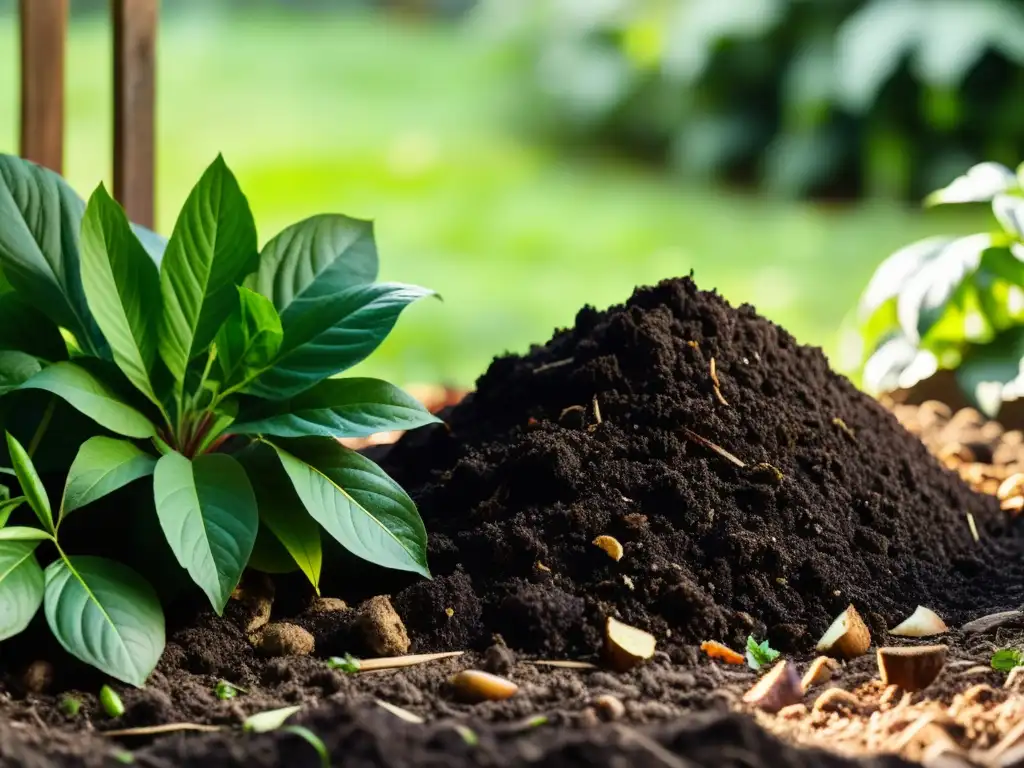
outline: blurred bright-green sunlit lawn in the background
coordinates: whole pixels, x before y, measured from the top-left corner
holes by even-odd
[[[0,0],[0,152],[16,152],[16,25]],[[383,278],[430,286],[360,373],[470,383],[584,303],[694,270],[835,351],[841,318],[894,248],[970,217],[825,209],[695,188],[518,136],[488,45],[347,15],[168,14],[160,39],[158,228],[222,152],[260,238],[336,211],[377,222]],[[12,66],[13,65],[13,66]],[[111,164],[110,31],[73,25],[66,170],[85,196]]]

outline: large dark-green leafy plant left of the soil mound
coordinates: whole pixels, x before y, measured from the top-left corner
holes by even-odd
[[[131,224],[102,185],[85,204],[58,175],[0,156],[0,426],[5,473],[20,487],[0,501],[0,525],[27,505],[40,526],[0,528],[0,602],[12,606],[0,640],[42,603],[69,652],[144,682],[164,645],[157,594],[124,565],[66,554],[58,530],[145,478],[153,507],[137,513],[156,515],[218,613],[247,566],[300,569],[318,591],[322,530],[365,560],[428,577],[416,506],[338,440],[437,421],[387,382],[334,378],[432,295],[375,282],[377,270],[372,224],[341,215],[258,248],[220,157],[165,241]],[[58,402],[92,431],[61,467],[54,508],[34,459]],[[17,420],[31,422],[27,447]],[[45,574],[40,542],[57,554]]]

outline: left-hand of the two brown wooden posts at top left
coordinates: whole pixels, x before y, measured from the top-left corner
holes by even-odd
[[[63,65],[68,0],[20,0],[20,153],[58,173],[63,165]]]

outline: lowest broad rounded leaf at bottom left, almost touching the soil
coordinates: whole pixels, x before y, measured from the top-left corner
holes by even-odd
[[[46,568],[44,612],[65,650],[111,677],[142,687],[164,652],[164,612],[138,573],[84,555]]]

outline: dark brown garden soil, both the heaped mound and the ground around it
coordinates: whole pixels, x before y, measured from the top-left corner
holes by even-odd
[[[353,609],[315,601],[286,577],[275,594],[249,580],[223,617],[174,610],[157,672],[144,690],[119,687],[126,712],[116,719],[93,695],[102,679],[38,628],[0,647],[0,765],[318,765],[294,733],[238,733],[245,716],[288,705],[303,705],[289,722],[319,734],[336,765],[851,765],[784,745],[737,714],[757,673],[709,660],[699,643],[741,648],[753,634],[803,663],[851,603],[882,644],[918,604],[958,627],[1024,602],[1024,547],[993,497],[971,492],[819,350],[689,279],[639,289],[607,311],[583,309],[548,344],[496,359],[444,417],[372,449],[420,506],[432,581],[342,553],[329,558],[338,566],[323,594]],[[599,536],[622,544],[621,559],[593,544]],[[404,670],[329,669],[328,656],[374,655],[357,606],[381,593],[411,651],[466,653]],[[271,621],[308,633],[312,654],[254,648],[248,631],[267,606]],[[599,663],[608,616],[651,632],[655,657],[625,674],[530,664]],[[952,633],[952,660],[928,694],[946,706],[979,679],[999,685],[991,672],[967,673],[1018,635],[1002,625]],[[462,703],[447,680],[467,668],[507,676],[519,691]],[[864,657],[836,681],[857,691],[865,718],[884,707],[873,674]],[[219,700],[221,679],[244,691]],[[805,713],[818,712],[817,693]],[[621,718],[602,718],[602,694],[624,702]],[[82,703],[77,714],[68,695]],[[814,734],[866,727],[854,715],[761,723],[836,748]],[[224,730],[104,735],[168,723]],[[894,720],[893,732],[905,726]],[[844,743],[860,755],[866,740]]]

